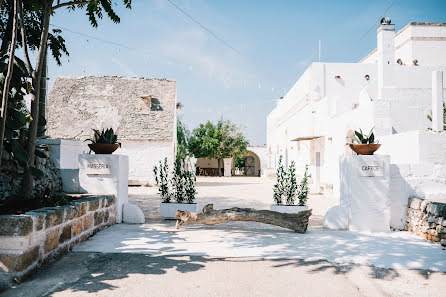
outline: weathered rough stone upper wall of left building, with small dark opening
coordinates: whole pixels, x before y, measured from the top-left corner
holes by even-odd
[[[174,141],[176,82],[117,76],[56,78],[48,96],[50,138],[83,141],[92,138],[93,128],[109,127],[120,141]]]

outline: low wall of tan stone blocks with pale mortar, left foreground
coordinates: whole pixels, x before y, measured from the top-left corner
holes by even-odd
[[[0,292],[113,225],[115,216],[113,195],[89,196],[24,215],[0,215]]]

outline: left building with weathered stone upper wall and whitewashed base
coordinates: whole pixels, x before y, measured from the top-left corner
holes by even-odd
[[[72,180],[78,155],[89,152],[85,140],[93,136],[92,129],[113,128],[122,144],[115,153],[129,156],[130,182],[152,183],[158,160],[171,162],[175,156],[176,103],[173,80],[58,77],[47,103],[50,139],[42,142],[60,160],[62,181]],[[71,184],[64,190],[75,188]]]

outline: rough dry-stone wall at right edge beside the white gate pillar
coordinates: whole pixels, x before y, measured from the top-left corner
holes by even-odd
[[[410,198],[406,221],[408,231],[446,246],[446,203]]]

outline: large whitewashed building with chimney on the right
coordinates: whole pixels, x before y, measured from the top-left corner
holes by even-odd
[[[267,150],[270,172],[280,155],[301,172],[310,164],[313,191],[339,195],[339,157],[353,153],[346,136],[375,127],[377,154],[393,163],[392,226],[402,228],[409,196],[446,193],[446,135],[428,131],[427,118],[446,86],[446,24],[394,28],[381,24],[377,49],[359,63],[311,64],[268,115]]]

